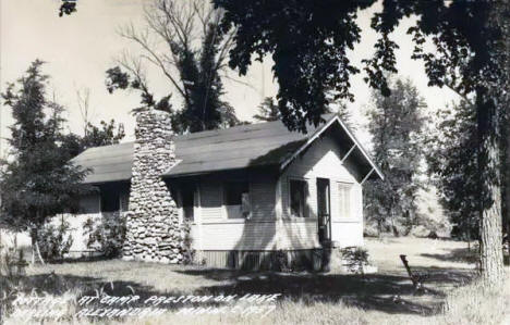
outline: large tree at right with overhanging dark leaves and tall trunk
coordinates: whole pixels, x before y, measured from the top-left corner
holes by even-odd
[[[235,28],[229,64],[245,74],[253,55],[271,54],[282,121],[291,129],[318,123],[325,89],[352,98],[349,77],[357,73],[347,58],[360,41],[355,18],[374,1],[212,0],[224,9],[222,29]],[[385,0],[372,27],[379,34],[375,54],[365,60],[366,80],[389,95],[385,72],[396,73],[397,42],[391,33],[404,17],[414,59],[425,61],[430,86],[447,86],[464,98],[476,97],[477,166],[481,195],[481,275],[488,287],[503,279],[500,211],[499,116],[510,105],[510,0]],[[469,22],[469,24],[466,24]],[[435,51],[426,52],[427,39]],[[502,87],[503,86],[503,87]],[[505,87],[506,86],[506,87]]]

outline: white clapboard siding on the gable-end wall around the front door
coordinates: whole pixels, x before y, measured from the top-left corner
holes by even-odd
[[[317,139],[306,152],[296,158],[281,175],[281,215],[283,221],[296,220],[290,216],[290,179],[305,179],[308,187],[308,218],[303,226],[294,227],[294,233],[282,232],[283,247],[306,247],[313,248],[317,241],[317,178],[328,178],[330,180],[330,208],[331,208],[331,240],[340,246],[354,246],[363,243],[363,203],[362,186],[343,166],[341,162],[342,153],[339,143],[331,137]],[[349,213],[342,212],[340,185],[350,186]]]

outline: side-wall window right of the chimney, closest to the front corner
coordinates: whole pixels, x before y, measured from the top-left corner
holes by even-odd
[[[229,218],[246,217],[251,212],[250,186],[247,182],[224,184],[224,205]]]

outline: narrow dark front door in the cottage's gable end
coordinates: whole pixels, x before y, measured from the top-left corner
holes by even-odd
[[[331,240],[331,210],[328,178],[317,178],[318,238],[323,245]]]

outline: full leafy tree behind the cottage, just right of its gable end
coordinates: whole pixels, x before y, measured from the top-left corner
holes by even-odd
[[[385,179],[365,187],[365,212],[377,223],[379,234],[389,226],[399,236],[401,226],[408,233],[416,220],[426,118],[423,99],[410,80],[398,79],[390,88],[389,97],[373,91],[374,108],[368,112],[373,155]]]

